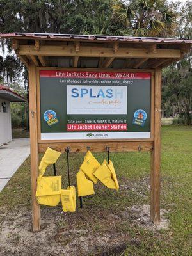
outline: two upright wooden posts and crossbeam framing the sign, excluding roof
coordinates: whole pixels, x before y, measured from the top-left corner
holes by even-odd
[[[129,72],[151,72],[151,138],[144,140],[101,140],[81,142],[76,141],[43,141],[40,140],[40,70],[73,70],[74,68],[50,68],[29,65],[29,111],[31,138],[31,186],[32,186],[32,216],[33,231],[40,230],[40,205],[35,198],[36,179],[38,177],[38,152],[44,152],[49,146],[65,151],[70,145],[72,152],[86,152],[89,145],[93,151],[104,151],[108,145],[114,152],[150,151],[151,152],[151,219],[157,224],[160,221],[160,128],[161,128],[161,69],[156,70],[126,70]],[[93,70],[88,69],[88,70]],[[106,69],[105,69],[106,70]],[[119,71],[119,70],[115,70]],[[121,70],[124,71],[124,70]],[[156,122],[154,122],[156,120]],[[95,143],[96,142],[96,143]]]

